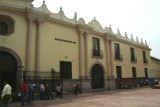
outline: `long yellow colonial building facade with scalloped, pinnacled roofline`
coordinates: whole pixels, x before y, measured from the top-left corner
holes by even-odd
[[[94,18],[73,19],[51,13],[43,1],[39,8],[33,0],[0,1],[0,82],[17,79],[22,71],[63,73],[63,88],[71,90],[81,81],[83,92],[94,89],[116,89],[119,80],[148,77],[150,51],[143,42],[111,26],[103,29]],[[30,74],[28,74],[30,75]],[[18,87],[18,82],[12,83]],[[134,83],[132,81],[132,83]]]

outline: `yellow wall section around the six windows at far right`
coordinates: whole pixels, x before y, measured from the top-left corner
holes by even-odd
[[[114,60],[114,70],[115,70],[115,77],[117,78],[116,73],[116,66],[121,66],[122,71],[122,78],[132,78],[132,67],[136,67],[136,76],[137,77],[145,77],[144,68],[148,68],[148,75],[149,75],[149,64],[150,64],[150,52],[135,46],[127,45],[120,42],[114,42],[118,43],[120,45],[120,53],[123,56],[122,61],[116,61]],[[137,57],[136,63],[131,63],[131,53],[130,53],[130,47],[134,48],[134,54],[135,57]],[[114,45],[113,45],[114,49]],[[146,58],[148,60],[148,63],[143,63],[143,54],[142,51],[146,52]],[[115,50],[113,52],[114,58],[115,58]]]

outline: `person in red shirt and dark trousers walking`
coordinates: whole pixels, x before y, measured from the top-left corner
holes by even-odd
[[[28,104],[30,104],[30,101],[26,99],[26,96],[27,96],[27,84],[25,81],[23,81],[23,86],[21,90],[21,105],[20,106],[24,106],[24,102],[27,102]]]

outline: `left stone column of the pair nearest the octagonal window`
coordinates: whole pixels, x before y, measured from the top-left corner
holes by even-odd
[[[32,22],[33,20],[28,19],[25,68],[26,71],[31,71]]]

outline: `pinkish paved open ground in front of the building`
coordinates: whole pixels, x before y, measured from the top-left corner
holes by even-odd
[[[9,107],[20,107],[20,102]],[[160,107],[160,89],[149,87],[65,95],[64,99],[34,101],[25,107]]]

